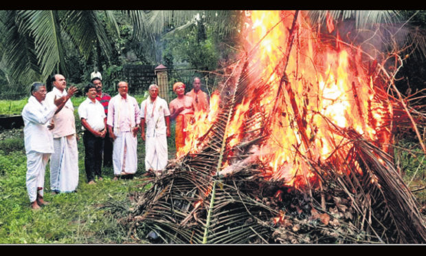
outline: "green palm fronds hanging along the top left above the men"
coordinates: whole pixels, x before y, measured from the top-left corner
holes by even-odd
[[[128,10],[122,13],[133,23],[134,39],[149,39],[150,47],[155,49],[156,36],[184,29],[197,21],[230,21],[236,12]],[[229,23],[219,24],[222,24],[218,25],[219,32],[229,32]],[[111,58],[113,39],[120,36],[113,10],[1,10],[0,32],[1,58],[8,63],[10,77],[22,83],[45,81],[55,72],[67,75],[64,40],[71,41],[85,59],[97,45],[106,58]]]

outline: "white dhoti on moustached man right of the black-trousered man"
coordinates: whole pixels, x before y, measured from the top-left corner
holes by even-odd
[[[137,171],[137,137],[131,131],[122,131],[117,136],[113,145],[114,175],[122,171],[133,174]]]

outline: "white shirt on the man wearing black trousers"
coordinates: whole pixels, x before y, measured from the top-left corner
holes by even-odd
[[[102,131],[105,128],[104,118],[106,118],[104,107],[98,100],[95,103],[90,98],[86,98],[80,106],[78,106],[78,116],[85,118],[87,123],[95,131]],[[82,127],[85,130],[85,127]]]

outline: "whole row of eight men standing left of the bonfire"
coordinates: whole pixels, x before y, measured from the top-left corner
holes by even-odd
[[[45,168],[50,160],[50,187],[52,194],[76,191],[78,186],[78,148],[74,106],[70,98],[74,86],[67,88],[65,77],[52,78],[53,89],[47,92],[43,83],[33,83],[31,96],[23,108],[24,142],[27,154],[26,186],[32,209],[44,204],[43,186]],[[185,127],[194,111],[208,109],[208,96],[201,91],[200,78],[194,78],[193,89],[184,94],[185,85],[175,83],[177,98],[170,102],[160,98],[159,87],[148,88],[149,97],[140,107],[128,95],[128,83],[117,84],[118,94],[102,92],[102,78],[94,77],[85,87],[87,98],[78,106],[85,145],[85,172],[87,182],[94,184],[96,176],[102,180],[104,167],[113,166],[114,178],[137,171],[137,133],[145,141],[145,167],[148,173],[159,175],[168,162],[167,137],[170,119],[176,119],[176,147],[185,142]]]

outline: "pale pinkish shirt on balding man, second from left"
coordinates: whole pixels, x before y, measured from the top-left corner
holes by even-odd
[[[60,92],[56,87],[52,91],[46,94],[45,102],[47,105],[54,105],[54,99],[66,96],[67,92],[65,89],[63,92]],[[69,136],[71,134],[76,134],[76,120],[74,118],[74,106],[71,103],[71,99],[67,100],[65,106],[60,109],[58,114],[54,115],[53,118],[55,128],[52,130],[54,138],[60,138],[64,136]]]

